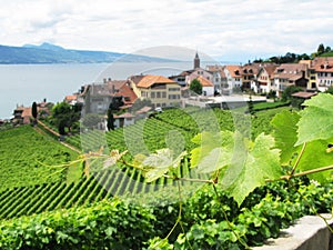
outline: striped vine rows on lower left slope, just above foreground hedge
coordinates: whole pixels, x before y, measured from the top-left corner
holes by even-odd
[[[189,172],[188,160],[184,160],[178,174],[199,178],[194,171]],[[92,173],[89,178],[84,176],[78,182],[58,181],[3,190],[0,192],[0,219],[85,206],[113,196],[135,196],[148,192],[151,196],[154,191],[172,184],[174,183],[168,179],[147,183],[143,181],[141,171],[113,167]]]

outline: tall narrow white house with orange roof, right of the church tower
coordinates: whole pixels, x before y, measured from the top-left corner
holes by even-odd
[[[233,92],[238,92],[242,88],[242,74],[241,74],[240,66],[225,66],[224,73],[226,78],[228,84],[228,93],[231,94]]]

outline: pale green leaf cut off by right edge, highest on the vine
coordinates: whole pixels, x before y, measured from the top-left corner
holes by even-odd
[[[299,140],[296,146],[307,141],[326,140],[333,137],[333,96],[319,93],[306,100],[304,110],[300,112],[297,123]]]

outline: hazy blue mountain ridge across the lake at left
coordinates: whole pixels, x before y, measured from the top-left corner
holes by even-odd
[[[0,64],[23,63],[99,63],[113,62],[120,59],[124,62],[168,62],[162,58],[125,54],[107,51],[71,50],[51,43],[40,46],[26,44],[23,47],[0,46]]]

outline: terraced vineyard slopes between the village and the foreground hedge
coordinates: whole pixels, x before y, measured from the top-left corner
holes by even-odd
[[[269,110],[260,112],[256,117],[251,118],[252,130],[256,132],[263,127],[270,130],[269,122],[271,117],[281,109]],[[211,119],[204,119],[205,113],[202,110],[189,109],[186,112],[182,110],[167,110],[163,113],[158,114],[155,118],[138,121],[134,126],[127,127],[124,129],[118,129],[110,132],[102,132],[93,130],[83,136],[69,137],[67,142],[80,148],[84,151],[97,151],[101,146],[105,149],[119,149],[123,151],[131,149],[130,153],[134,154],[142,152],[142,150],[154,151],[161,148],[170,148],[171,144],[182,144],[190,151],[192,148],[191,139],[194,134],[201,131],[201,128],[216,129],[233,129],[233,117],[229,111],[214,110],[210,117]],[[241,114],[240,114],[241,116]],[[213,126],[212,126],[213,123]],[[12,134],[11,134],[12,133]],[[24,158],[29,162],[28,168],[22,168],[22,172],[14,172],[16,178],[21,178],[29,171],[36,171],[34,182],[22,180],[22,183],[2,186],[0,190],[0,218],[13,218],[23,214],[39,213],[41,211],[50,211],[60,208],[70,208],[73,206],[82,206],[108,199],[113,196],[138,194],[148,193],[151,196],[153,191],[164,189],[165,186],[175,186],[168,179],[159,179],[158,182],[145,183],[143,181],[143,173],[133,168],[125,166],[112,167],[95,173],[91,173],[89,178],[83,176],[75,182],[65,181],[65,172],[54,173],[51,176],[53,168],[48,166],[54,166],[63,163],[63,160],[72,160],[77,156],[69,149],[64,149],[59,142],[54,141],[46,134],[39,134],[31,127],[21,127],[14,130],[9,130],[0,133],[0,138],[6,138],[4,142],[10,146],[10,142],[16,138],[22,149],[46,149],[48,151],[40,151],[40,154],[27,151],[21,151],[19,154],[10,154],[3,147],[1,152],[4,152],[6,161],[2,166],[12,166],[11,169],[20,169],[22,164],[26,164],[20,157]],[[169,138],[169,139],[168,139]],[[28,140],[24,142],[24,140]],[[31,147],[36,141],[42,144]],[[147,146],[147,148],[144,148]],[[44,148],[46,147],[46,148]],[[17,150],[12,150],[17,151]],[[8,154],[9,153],[9,154]],[[28,154],[32,154],[32,158]],[[14,161],[9,161],[8,156],[16,158]],[[65,159],[63,158],[65,157]],[[3,161],[4,158],[2,158]],[[21,160],[20,160],[21,159]],[[39,161],[36,161],[39,159]],[[43,159],[48,159],[48,164],[40,164],[44,162]],[[52,160],[51,160],[52,159]],[[54,161],[58,159],[58,161]],[[19,162],[21,164],[19,164]],[[1,162],[1,161],[0,161]],[[6,163],[7,162],[7,163]],[[31,166],[32,164],[32,166]],[[20,168],[18,168],[20,167]],[[3,167],[2,167],[3,168]],[[77,171],[82,171],[80,167],[75,167]],[[56,169],[57,170],[57,169]],[[19,170],[14,170],[19,171]],[[46,173],[43,172],[46,171]],[[7,178],[11,178],[10,173],[7,174],[6,169],[2,169],[2,182],[7,183]],[[183,160],[182,168],[179,176],[199,178],[192,170],[190,171],[188,158]],[[37,178],[38,177],[38,178]],[[47,178],[48,177],[48,178]],[[29,179],[30,176],[27,174]],[[31,179],[33,179],[31,177]],[[29,179],[30,180],[30,179]],[[11,180],[13,181],[13,180]],[[13,181],[14,183],[16,181]]]

